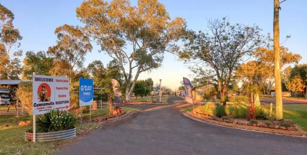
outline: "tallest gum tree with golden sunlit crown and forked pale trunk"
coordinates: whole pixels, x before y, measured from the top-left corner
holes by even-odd
[[[185,20],[171,20],[165,6],[157,0],[138,0],[137,6],[131,6],[128,0],[88,0],[76,13],[85,24],[85,34],[120,67],[126,100],[130,100],[140,73],[160,67],[164,52],[179,50],[176,42],[186,30]]]

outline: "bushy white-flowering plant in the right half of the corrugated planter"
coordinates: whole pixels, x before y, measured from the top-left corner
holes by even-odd
[[[58,115],[53,116],[50,120],[55,131],[72,129],[77,121],[75,116],[67,111],[60,111]]]

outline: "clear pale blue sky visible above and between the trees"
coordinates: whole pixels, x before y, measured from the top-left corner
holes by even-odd
[[[82,25],[76,18],[76,7],[82,0],[3,0],[2,5],[15,14],[14,26],[19,29],[23,39],[21,49],[24,54],[28,50],[46,51],[56,44],[54,30],[63,24]],[[133,5],[136,0],[131,0]],[[188,29],[206,30],[207,19],[230,18],[231,23],[253,25],[263,29],[263,34],[273,31],[273,0],[160,0],[172,18],[185,18]],[[286,35],[291,38],[283,44],[293,53],[301,54],[300,63],[307,62],[307,1],[287,0],[281,4],[280,40]],[[104,53],[98,53],[99,46],[94,45],[92,53],[87,54],[84,66],[93,60],[101,60],[107,64],[111,59]],[[176,61],[171,54],[165,54],[163,66],[151,73],[142,73],[139,79],[151,77],[154,83],[162,79],[162,85],[172,89],[180,86],[182,77],[191,74],[183,62]],[[190,79],[191,80],[191,79]]]

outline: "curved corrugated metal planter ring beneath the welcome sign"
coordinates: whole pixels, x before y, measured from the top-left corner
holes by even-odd
[[[76,137],[76,128],[48,132],[48,133],[36,133],[36,141],[60,141],[60,140],[69,140]],[[25,132],[25,141],[33,141],[33,133]]]

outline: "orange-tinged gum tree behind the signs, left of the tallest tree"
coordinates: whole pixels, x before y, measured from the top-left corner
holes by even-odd
[[[78,26],[64,24],[57,27],[57,44],[48,48],[47,54],[54,57],[55,63],[67,62],[69,65],[69,79],[72,80],[75,67],[83,67],[85,55],[93,49],[90,40],[84,36]],[[55,64],[58,66],[58,64]]]

